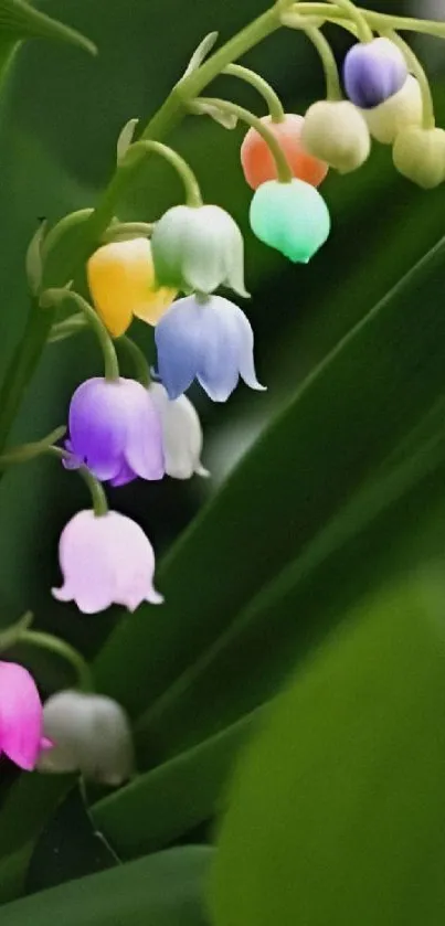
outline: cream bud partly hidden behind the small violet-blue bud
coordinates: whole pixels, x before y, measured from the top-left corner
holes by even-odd
[[[361,111],[372,137],[381,145],[393,145],[402,129],[422,124],[423,103],[418,81],[409,74],[399,93],[374,109]]]

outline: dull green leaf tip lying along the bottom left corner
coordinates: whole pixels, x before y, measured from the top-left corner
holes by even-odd
[[[8,904],[8,926],[204,926],[212,850],[171,849]]]

